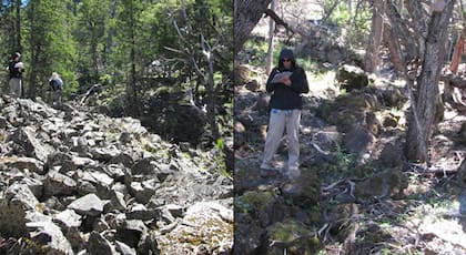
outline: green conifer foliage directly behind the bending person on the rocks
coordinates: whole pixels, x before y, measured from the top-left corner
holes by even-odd
[[[65,1],[51,0],[31,1],[26,7],[23,62],[29,96],[48,91],[52,72],[62,76],[65,94],[75,89],[75,44],[70,35],[74,20],[67,8]]]

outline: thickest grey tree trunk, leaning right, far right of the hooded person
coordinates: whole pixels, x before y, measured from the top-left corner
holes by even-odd
[[[406,134],[406,156],[413,162],[429,161],[427,150],[435,124],[436,103],[439,96],[438,81],[445,61],[445,39],[454,3],[452,0],[442,12],[434,12],[428,26],[422,71],[417,78],[417,90],[412,98],[414,108],[408,116]]]

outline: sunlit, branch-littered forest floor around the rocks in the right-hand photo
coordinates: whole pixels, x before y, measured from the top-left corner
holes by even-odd
[[[265,72],[261,68],[253,69],[256,70],[259,84],[265,84]],[[466,188],[462,186],[464,183],[458,180],[457,172],[466,155],[464,143],[458,141],[466,116],[445,105],[444,120],[438,123],[432,139],[430,166],[405,162],[401,175],[405,185],[397,196],[352,200],[358,187],[373,188],[364,187],[366,180],[392,169],[374,164],[374,157],[381,154],[383,146],[374,146],[365,159],[355,159],[343,146],[334,144],[326,152],[334,160],[325,162],[320,159],[322,153],[314,146],[316,134],[332,132],[335,126],[325,123],[316,112],[322,108],[322,102],[334,100],[340,93],[333,84],[334,76],[334,72],[318,75],[307,73],[311,92],[304,95],[301,122],[301,172],[314,171],[320,180],[321,221],[308,227],[315,231],[321,241],[318,254],[465,254]],[[398,85],[403,88],[403,84]],[[263,86],[255,92],[244,86],[235,91],[235,118],[240,116],[236,120],[251,116],[250,121],[253,122],[246,125],[246,130],[253,128],[245,135],[244,144],[240,144],[235,151],[236,196],[247,191],[263,190],[264,185],[283,191],[292,182],[281,176],[261,177],[260,161],[269,121],[266,112],[257,111],[257,103],[263,96]],[[404,112],[395,114],[404,119]],[[405,123],[398,121],[395,129],[382,129],[375,143],[388,140],[403,143],[405,132]],[[284,143],[275,159],[278,166],[286,162],[286,154]],[[359,178],[361,169],[372,169],[372,173],[365,172]],[[345,211],[347,205],[351,210],[346,210],[342,218],[337,212]]]

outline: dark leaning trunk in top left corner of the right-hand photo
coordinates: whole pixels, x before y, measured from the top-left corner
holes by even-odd
[[[234,2],[234,52],[243,49],[244,42],[257,24],[272,0],[235,0]]]

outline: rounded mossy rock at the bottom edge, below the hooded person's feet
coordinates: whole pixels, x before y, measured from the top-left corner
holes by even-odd
[[[315,254],[321,246],[315,232],[294,220],[278,222],[267,228],[267,245],[263,254]]]

